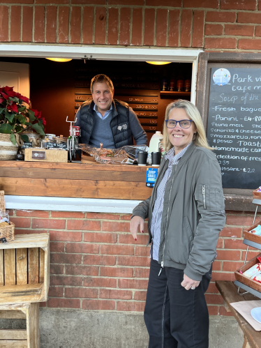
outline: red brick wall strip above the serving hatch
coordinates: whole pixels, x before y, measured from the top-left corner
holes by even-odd
[[[260,24],[261,0],[3,0],[0,6],[1,43],[256,52]]]

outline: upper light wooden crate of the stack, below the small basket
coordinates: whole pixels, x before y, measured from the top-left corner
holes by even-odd
[[[47,233],[16,234],[0,244],[0,305],[47,300],[50,278]]]

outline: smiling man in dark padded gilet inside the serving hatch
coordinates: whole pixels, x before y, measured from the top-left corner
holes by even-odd
[[[121,146],[147,145],[144,132],[137,115],[127,103],[113,99],[112,80],[106,75],[96,75],[91,79],[93,100],[84,102],[75,115],[75,126],[81,128],[81,144],[105,149]]]

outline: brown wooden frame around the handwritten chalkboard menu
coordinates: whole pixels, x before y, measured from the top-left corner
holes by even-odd
[[[256,67],[260,64],[260,53],[243,53],[243,52],[204,52],[199,54],[198,71],[197,71],[197,98],[196,105],[202,116],[204,129],[207,132],[207,119],[209,109],[209,91],[211,80],[211,68],[221,65],[226,68],[248,68]],[[224,188],[225,209],[231,211],[255,211],[255,205],[252,204],[253,195],[249,189],[241,188]]]

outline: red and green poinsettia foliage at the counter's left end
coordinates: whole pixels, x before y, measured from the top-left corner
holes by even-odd
[[[45,118],[41,112],[29,108],[29,98],[13,91],[13,87],[0,87],[0,133],[10,134],[10,140],[16,144],[16,134],[32,129],[40,135],[45,135]],[[24,142],[27,135],[20,134]]]

